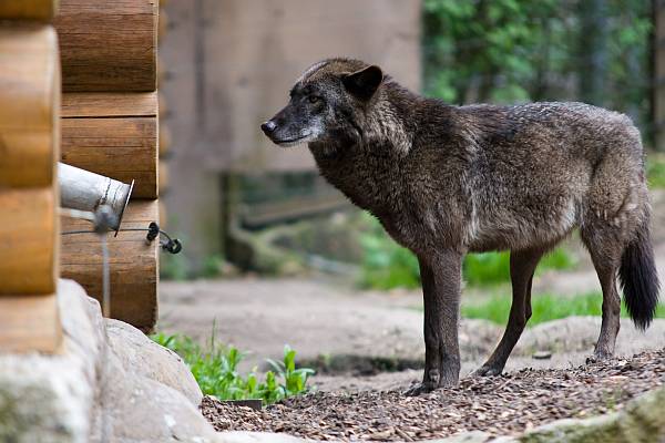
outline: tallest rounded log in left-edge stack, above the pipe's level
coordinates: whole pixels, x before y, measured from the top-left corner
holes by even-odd
[[[50,25],[0,28],[0,187],[53,182],[60,142],[58,59]]]

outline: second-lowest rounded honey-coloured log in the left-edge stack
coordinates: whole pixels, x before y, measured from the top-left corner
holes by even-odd
[[[0,297],[55,292],[55,187],[0,189]]]

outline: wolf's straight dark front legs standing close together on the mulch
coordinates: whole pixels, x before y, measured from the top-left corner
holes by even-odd
[[[407,391],[418,395],[457,385],[460,374],[458,319],[462,254],[447,250],[419,258],[424,299],[424,375]]]

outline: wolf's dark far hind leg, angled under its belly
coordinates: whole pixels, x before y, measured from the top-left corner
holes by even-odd
[[[474,375],[498,375],[520,339],[531,317],[531,284],[533,272],[545,249],[514,250],[510,253],[510,278],[512,281],[512,306],[505,332],[492,356]]]

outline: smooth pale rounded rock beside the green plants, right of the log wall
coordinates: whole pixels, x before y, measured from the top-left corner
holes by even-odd
[[[125,371],[166,384],[195,406],[201,404],[201,388],[177,353],[155,343],[131,324],[113,319],[105,322],[111,349]]]

